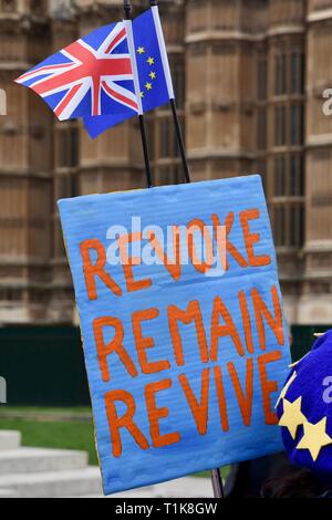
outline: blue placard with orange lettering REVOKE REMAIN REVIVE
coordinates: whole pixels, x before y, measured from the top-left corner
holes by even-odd
[[[105,493],[281,450],[290,353],[260,177],[59,208]]]

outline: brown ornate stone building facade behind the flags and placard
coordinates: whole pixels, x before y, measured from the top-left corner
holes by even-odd
[[[136,11],[147,1],[133,2]],[[332,323],[332,0],[160,0],[194,180],[261,173],[288,319]],[[56,200],[143,187],[135,121],[91,141],[12,80],[120,0],[0,0],[0,323],[75,321]],[[147,116],[156,184],[183,178],[169,110]]]

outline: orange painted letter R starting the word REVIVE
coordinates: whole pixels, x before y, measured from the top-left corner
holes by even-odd
[[[122,402],[127,407],[126,413],[122,417],[117,415],[115,406],[116,401]],[[107,392],[107,394],[105,394],[105,405],[114,457],[121,457],[122,455],[121,428],[126,428],[129,431],[139,448],[148,449],[148,441],[134,423],[136,403],[132,394],[123,389]]]

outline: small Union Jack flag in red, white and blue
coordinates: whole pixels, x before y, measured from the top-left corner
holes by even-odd
[[[138,112],[123,22],[93,31],[21,75],[60,121]],[[112,119],[111,119],[112,121]]]

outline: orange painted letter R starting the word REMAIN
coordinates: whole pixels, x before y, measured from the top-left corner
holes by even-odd
[[[112,326],[114,329],[114,337],[107,344],[104,341],[103,329],[105,326]],[[102,372],[103,381],[105,383],[108,383],[110,381],[107,356],[113,352],[117,354],[120,361],[125,365],[127,372],[131,374],[132,377],[136,377],[138,375],[134,362],[132,361],[129,354],[123,346],[122,342],[124,339],[124,329],[120,320],[112,316],[97,318],[93,321],[93,333],[98,355],[100,368]]]

